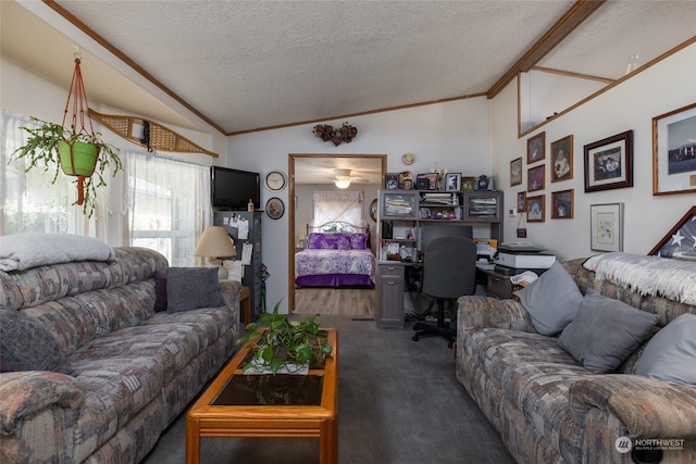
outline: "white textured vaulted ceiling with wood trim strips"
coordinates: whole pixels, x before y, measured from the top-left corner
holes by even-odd
[[[66,87],[80,46],[90,99],[195,125],[183,103],[235,134],[485,93],[575,2],[54,3],[115,58],[36,0],[0,2],[3,55]],[[689,39],[695,17],[693,0],[610,1],[536,65],[617,79],[630,55],[644,64]]]

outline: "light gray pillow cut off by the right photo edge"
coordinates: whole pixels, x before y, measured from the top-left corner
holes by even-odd
[[[648,341],[635,373],[696,387],[696,314],[682,314]]]

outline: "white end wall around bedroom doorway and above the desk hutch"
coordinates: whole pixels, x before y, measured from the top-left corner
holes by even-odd
[[[463,175],[490,174],[490,102],[481,98],[414,106],[348,118],[358,128],[350,143],[334,147],[312,134],[312,124],[229,137],[227,167],[259,172],[288,172],[289,153],[387,154],[387,172],[427,173],[431,167],[461,172]],[[334,127],[345,121],[326,121]],[[411,152],[415,162],[401,162]],[[507,175],[507,174],[506,174]],[[288,189],[273,192],[262,189],[261,203],[279,197],[288,204]],[[371,199],[370,199],[371,200]],[[366,200],[369,201],[369,200]],[[266,304],[271,308],[283,298],[287,311],[288,294],[288,220],[263,222],[263,263],[271,277],[266,281]]]

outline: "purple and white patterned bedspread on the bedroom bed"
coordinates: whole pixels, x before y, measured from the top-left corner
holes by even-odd
[[[372,286],[375,264],[370,250],[302,250],[295,253],[295,281],[304,287]]]

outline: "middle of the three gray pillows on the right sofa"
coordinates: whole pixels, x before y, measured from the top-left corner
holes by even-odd
[[[607,373],[616,371],[638,348],[657,321],[656,314],[589,289],[558,344],[585,368]]]

